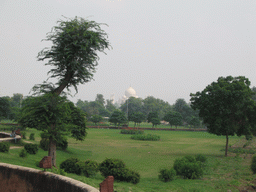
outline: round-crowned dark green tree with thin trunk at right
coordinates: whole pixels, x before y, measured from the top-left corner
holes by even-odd
[[[219,77],[202,92],[190,94],[191,106],[199,110],[199,116],[209,133],[226,136],[250,134],[255,125],[255,102],[250,81],[242,76]]]

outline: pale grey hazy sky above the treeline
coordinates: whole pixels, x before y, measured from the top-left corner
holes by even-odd
[[[62,15],[108,24],[113,47],[74,102],[117,100],[129,86],[141,98],[188,102],[228,75],[256,86],[255,0],[0,0],[0,96],[28,95],[47,79],[50,67],[36,57]]]

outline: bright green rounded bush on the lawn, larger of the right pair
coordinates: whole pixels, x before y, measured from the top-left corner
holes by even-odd
[[[181,175],[185,179],[198,179],[203,176],[202,163],[200,161],[196,161],[193,156],[176,159],[174,161],[173,168],[177,175]]]

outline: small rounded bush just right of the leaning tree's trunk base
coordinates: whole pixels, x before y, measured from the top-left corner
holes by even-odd
[[[79,162],[78,158],[71,157],[60,164],[60,169],[63,169],[67,173],[75,173],[80,175],[81,168],[77,162]]]

